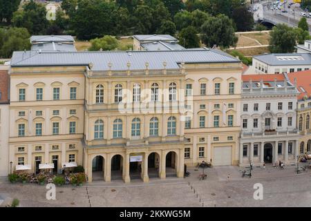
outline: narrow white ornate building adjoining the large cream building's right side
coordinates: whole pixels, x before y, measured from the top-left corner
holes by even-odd
[[[284,75],[243,75],[239,164],[294,162],[296,86]]]

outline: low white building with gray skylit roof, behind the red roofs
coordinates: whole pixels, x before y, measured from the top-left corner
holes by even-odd
[[[253,57],[252,66],[247,74],[282,74],[311,69],[311,54],[285,53],[264,54]]]

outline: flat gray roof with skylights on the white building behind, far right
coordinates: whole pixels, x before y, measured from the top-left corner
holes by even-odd
[[[279,53],[254,56],[258,61],[272,66],[311,65],[309,53]]]

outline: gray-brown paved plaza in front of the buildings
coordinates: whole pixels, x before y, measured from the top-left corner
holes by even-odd
[[[311,170],[296,175],[295,168],[255,167],[249,178],[242,177],[237,166],[216,166],[205,169],[207,180],[198,179],[202,169],[191,168],[185,179],[57,187],[56,200],[46,200],[46,186],[10,184],[2,179],[0,193],[18,198],[20,206],[311,206]],[[253,198],[256,183],[263,184],[263,200]]]

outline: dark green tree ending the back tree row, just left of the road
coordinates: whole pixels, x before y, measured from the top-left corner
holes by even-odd
[[[249,12],[245,6],[238,6],[232,12],[232,19],[236,23],[236,29],[241,32],[252,30],[254,27],[254,18],[252,12]]]

